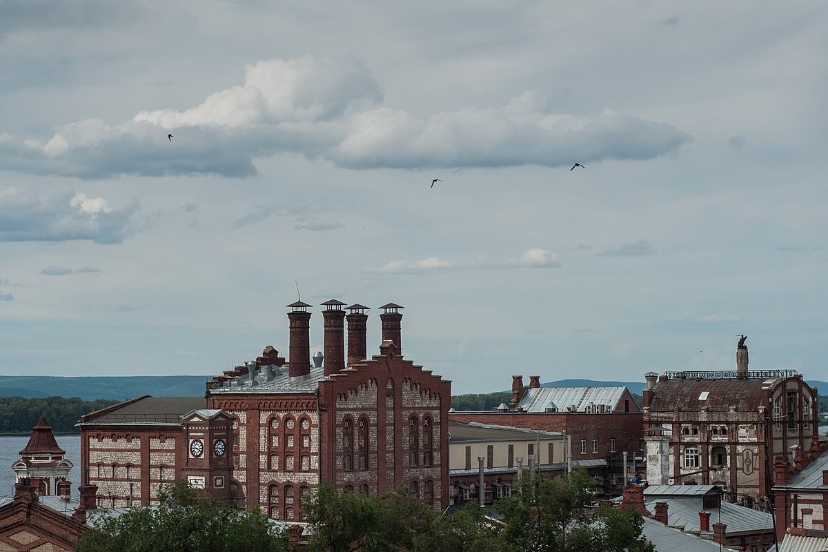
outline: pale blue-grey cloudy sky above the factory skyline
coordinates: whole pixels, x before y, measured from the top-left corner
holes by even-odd
[[[454,394],[739,334],[826,379],[826,50],[824,2],[3,0],[0,375],[220,374],[301,297]]]

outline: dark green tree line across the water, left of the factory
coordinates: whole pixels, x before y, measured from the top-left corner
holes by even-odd
[[[76,396],[46,396],[24,399],[22,396],[0,396],[0,433],[28,434],[41,415],[46,416],[55,433],[77,432],[80,416],[120,401],[84,401]]]

